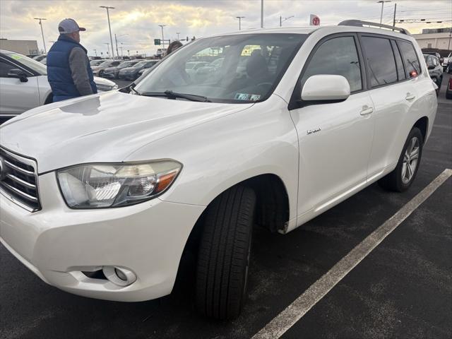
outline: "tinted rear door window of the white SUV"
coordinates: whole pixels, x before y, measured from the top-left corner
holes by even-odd
[[[362,37],[362,48],[367,59],[371,87],[398,81],[396,59],[389,39]]]

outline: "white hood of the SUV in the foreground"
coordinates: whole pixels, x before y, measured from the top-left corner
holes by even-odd
[[[112,91],[20,114],[0,126],[0,145],[37,160],[40,173],[87,162],[121,162],[143,145],[252,105]]]

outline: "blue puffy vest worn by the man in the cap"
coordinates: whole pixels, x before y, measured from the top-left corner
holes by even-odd
[[[73,83],[71,68],[69,67],[69,54],[74,47],[81,47],[85,53],[85,47],[65,35],[60,35],[57,42],[47,53],[47,79],[49,80],[54,102],[80,97],[80,93]],[[88,62],[88,76],[93,93],[97,93],[97,87],[93,78],[93,70]]]

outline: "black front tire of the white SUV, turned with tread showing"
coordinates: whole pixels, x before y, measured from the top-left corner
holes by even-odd
[[[246,299],[256,195],[234,186],[208,206],[199,244],[196,307],[215,319],[235,319]]]

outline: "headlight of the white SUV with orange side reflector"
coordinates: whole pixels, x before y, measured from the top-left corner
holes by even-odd
[[[181,169],[173,160],[92,164],[61,169],[57,177],[70,208],[105,208],[140,203],[162,194]]]

